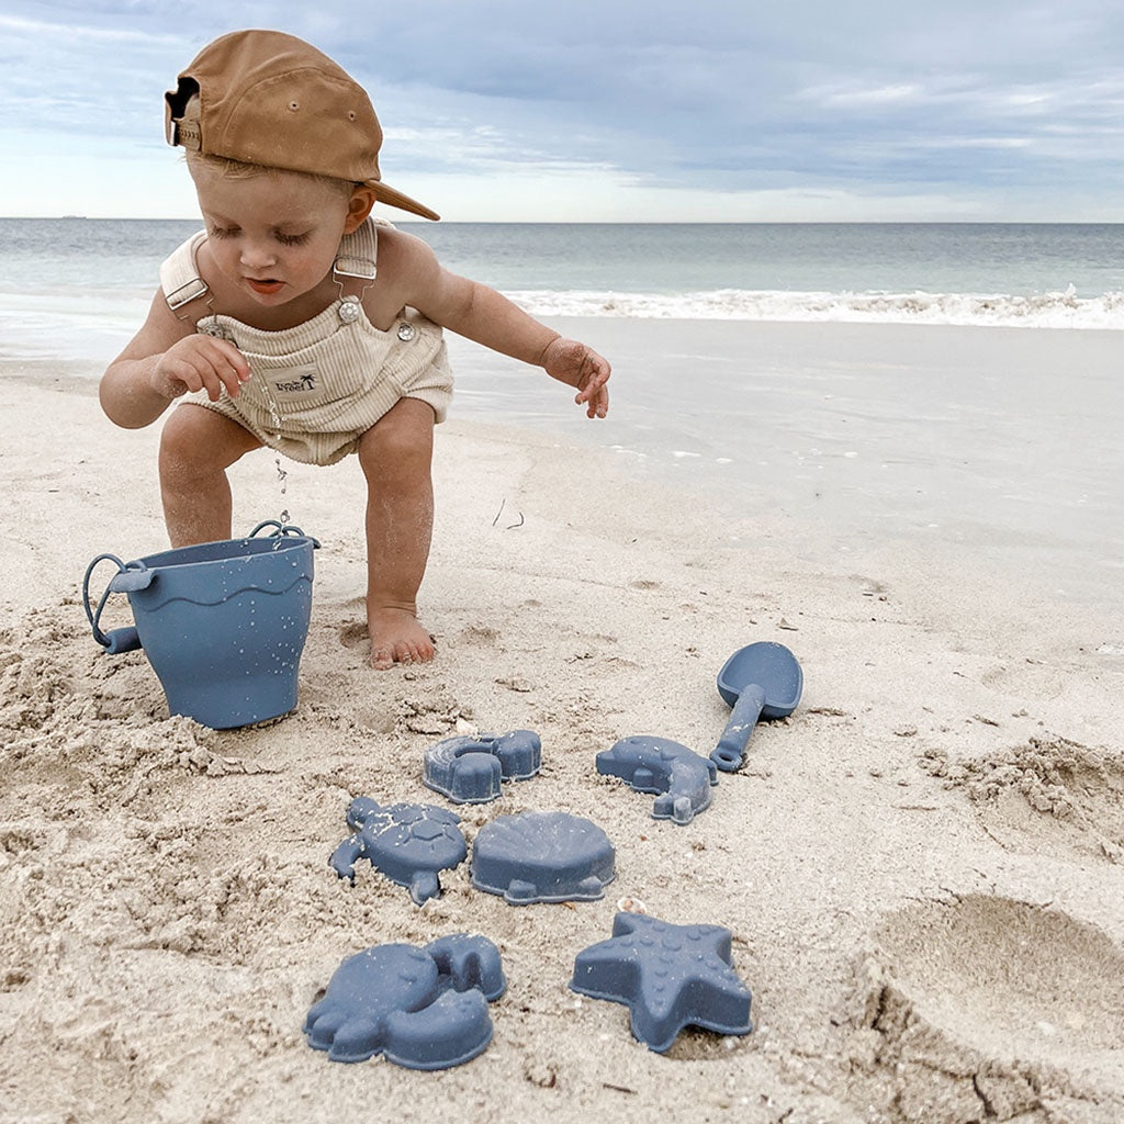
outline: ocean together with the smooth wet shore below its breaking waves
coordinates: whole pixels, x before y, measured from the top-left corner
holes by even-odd
[[[451,341],[453,417],[828,526],[841,564],[872,536],[977,544],[1059,595],[1118,599],[1124,225],[400,225],[533,315],[593,317],[569,330],[614,363],[595,425]],[[0,377],[30,361],[97,378],[197,226],[0,219]],[[622,318],[650,321],[642,344]],[[1036,343],[966,344],[970,327]]]

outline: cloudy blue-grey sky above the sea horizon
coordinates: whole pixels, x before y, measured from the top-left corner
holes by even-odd
[[[452,221],[1124,221],[1120,0],[4,0],[0,215],[194,217],[163,94],[241,27]]]

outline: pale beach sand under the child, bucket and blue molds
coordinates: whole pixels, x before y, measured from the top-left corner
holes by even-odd
[[[268,456],[237,468],[237,528],[285,507],[323,549],[298,709],[218,733],[169,717],[145,656],[102,654],[81,605],[96,554],[164,545],[157,428],[116,430],[88,378],[29,365],[0,401],[0,1121],[1124,1118],[1118,605],[898,542],[824,568],[790,519],[740,526],[610,453],[454,414],[425,667],[365,665],[355,465],[287,465],[284,495]],[[629,734],[709,752],[715,674],[758,640],[797,654],[804,697],[706,812],[655,821],[597,774]],[[450,806],[424,752],[525,727],[541,776],[456,809],[465,836],[588,817],[616,847],[601,900],[513,907],[468,863],[422,907],[366,863],[335,877],[352,797]],[[732,932],[752,1033],[688,1028],[658,1054],[625,1007],[569,989],[624,899]],[[462,932],[508,979],[478,1059],[426,1073],[306,1045],[345,957]]]

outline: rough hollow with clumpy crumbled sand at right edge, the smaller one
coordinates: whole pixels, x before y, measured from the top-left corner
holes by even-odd
[[[963,788],[988,834],[1014,851],[1124,863],[1124,760],[1064,737],[953,761],[930,750],[921,764]]]

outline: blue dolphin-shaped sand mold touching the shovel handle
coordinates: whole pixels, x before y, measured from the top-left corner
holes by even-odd
[[[597,771],[620,777],[637,792],[659,792],[652,805],[655,819],[689,824],[710,807],[718,767],[708,758],[667,737],[623,737],[597,754]]]

